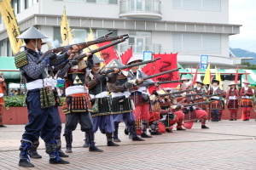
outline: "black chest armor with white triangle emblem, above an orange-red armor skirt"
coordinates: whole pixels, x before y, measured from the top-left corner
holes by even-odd
[[[70,69],[67,72],[67,79],[70,86],[83,86],[85,84],[84,70]]]

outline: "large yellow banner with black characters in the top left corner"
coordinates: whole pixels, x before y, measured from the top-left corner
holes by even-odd
[[[0,1],[0,13],[3,17],[3,23],[8,33],[9,42],[13,50],[13,54],[16,54],[20,52],[22,40],[16,38],[20,36],[20,30],[17,24],[14,9],[12,8],[10,2],[10,0]]]

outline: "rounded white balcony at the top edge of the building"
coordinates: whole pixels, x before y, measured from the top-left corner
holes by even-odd
[[[160,0],[121,0],[120,17],[161,18]]]

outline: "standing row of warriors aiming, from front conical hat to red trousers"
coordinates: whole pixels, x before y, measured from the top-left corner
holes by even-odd
[[[61,150],[61,116],[58,111],[60,99],[56,92],[57,77],[65,77],[65,93],[67,95],[62,111],[66,115],[64,134],[67,153],[73,152],[73,131],[78,123],[84,132],[84,147],[89,151],[102,152],[95,145],[95,133],[100,129],[107,138],[108,146],[119,146],[119,122],[125,121],[126,132],[133,141],[144,141],[141,138],[152,138],[147,134],[148,102],[147,87],[138,86],[146,75],[138,70],[120,71],[115,67],[123,66],[113,60],[105,69],[113,72],[104,74],[100,65],[104,61],[96,55],[86,53],[87,60],[71,62],[75,55],[81,54],[79,47],[61,54],[43,54],[42,39],[48,38],[41,31],[31,27],[20,37],[26,43],[24,51],[15,54],[16,66],[20,68],[26,79],[26,105],[28,123],[20,140],[21,167],[34,167],[30,158],[41,158],[38,155],[39,137],[44,140],[45,151],[49,154],[50,164],[68,164],[61,157],[68,157]],[[44,55],[44,59],[38,62]],[[142,61],[131,58],[128,64]],[[131,83],[129,81],[133,80]],[[136,84],[136,85],[135,85]],[[157,85],[157,84],[156,84]],[[109,92],[112,94],[110,95]],[[141,120],[143,133],[137,136],[136,120]],[[154,134],[154,133],[152,133]]]

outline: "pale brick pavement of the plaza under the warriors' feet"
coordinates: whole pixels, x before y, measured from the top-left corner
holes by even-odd
[[[24,125],[0,128],[0,169],[26,169],[19,167],[20,138]],[[256,123],[207,122],[210,129],[201,129],[194,123],[192,129],[154,136],[145,142],[132,142],[120,124],[119,147],[107,147],[106,137],[96,133],[96,145],[102,153],[90,153],[81,146],[84,133],[73,133],[73,153],[69,165],[50,165],[40,139],[38,153],[42,159],[32,160],[30,169],[256,169]],[[255,139],[254,139],[255,138]],[[65,146],[64,138],[62,144]],[[65,150],[64,147],[62,147]]]

